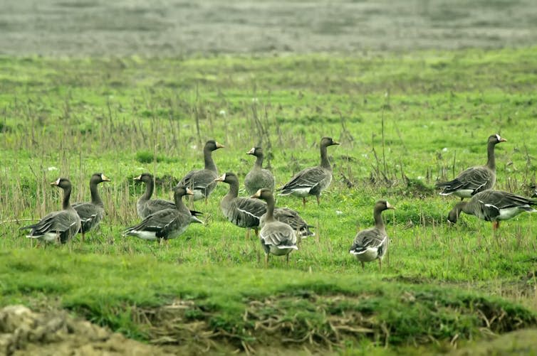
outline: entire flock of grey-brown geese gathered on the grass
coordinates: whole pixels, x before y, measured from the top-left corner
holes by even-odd
[[[449,182],[437,183],[442,188],[441,195],[456,195],[461,200],[448,214],[448,221],[457,222],[461,212],[475,215],[481,220],[493,223],[493,230],[499,228],[501,220],[509,220],[521,212],[536,212],[533,208],[537,200],[521,195],[493,190],[496,183],[496,161],[494,148],[496,144],[506,141],[499,134],[489,136],[487,142],[488,160],[484,166],[474,166],[459,173],[457,178]],[[294,195],[303,199],[314,195],[320,205],[320,194],[328,188],[332,180],[332,167],[328,160],[328,146],[339,143],[330,137],[320,140],[320,166],[305,168],[296,173],[282,188],[279,195]],[[311,226],[295,210],[288,207],[276,207],[273,196],[275,180],[271,171],[264,169],[263,150],[254,147],[248,154],[256,156],[256,163],[244,179],[249,198],[239,197],[239,178],[232,172],[219,176],[217,166],[213,161],[212,152],[224,146],[210,140],[204,146],[204,169],[190,171],[174,187],[174,201],[161,199],[152,200],[154,180],[150,173],[142,173],[135,180],[145,183],[145,193],[137,200],[137,215],[142,219],[135,226],[128,227],[124,236],[135,236],[140,239],[168,241],[179,237],[191,223],[203,223],[199,219],[202,212],[189,210],[184,204],[183,197],[192,197],[193,201],[205,200],[212,193],[217,183],[229,185],[228,193],[222,198],[220,207],[222,214],[229,222],[238,227],[246,228],[246,236],[250,230],[259,233],[261,246],[265,252],[265,263],[269,254],[286,256],[298,249],[298,239],[313,235]],[[66,243],[77,233],[82,234],[95,229],[103,220],[105,211],[103,201],[98,194],[97,185],[109,182],[103,173],[95,173],[90,179],[91,202],[70,203],[71,182],[67,178],[58,178],[51,183],[63,189],[62,210],[51,212],[33,225],[21,227],[21,230],[31,230],[27,237],[46,242]],[[358,232],[349,249],[364,268],[364,263],[379,261],[382,269],[382,258],[385,256],[390,239],[387,237],[382,212],[395,209],[387,200],[378,200],[373,207],[375,226]]]

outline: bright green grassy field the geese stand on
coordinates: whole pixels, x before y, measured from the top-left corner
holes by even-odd
[[[192,350],[445,351],[537,325],[536,217],[505,222],[497,237],[471,216],[450,227],[457,198],[434,190],[484,164],[499,133],[496,188],[533,194],[537,48],[0,64],[0,305],[68,308]],[[219,171],[241,180],[261,143],[281,186],[318,164],[322,136],[341,145],[328,149],[334,180],[320,207],[277,200],[316,231],[289,266],[276,257],[264,269],[259,241],[221,215],[222,184],[195,204],[207,225],[169,246],[121,237],[138,221],[132,178],[150,171],[157,197],[171,199],[202,167],[207,139],[226,146],[213,155]],[[89,200],[95,172],[112,179],[100,185],[100,230],[65,246],[24,238],[26,219],[61,205],[48,183],[66,176],[73,200]],[[362,271],[348,247],[379,198],[397,207],[385,214],[389,257],[382,272]]]

